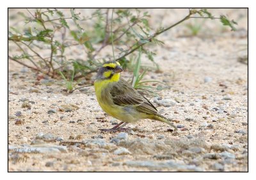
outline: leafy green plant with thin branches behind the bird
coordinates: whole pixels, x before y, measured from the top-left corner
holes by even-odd
[[[14,26],[9,27],[8,41],[20,53],[17,55],[10,52],[8,58],[52,78],[61,76],[64,79],[71,76],[72,80],[65,79],[68,91],[73,91],[74,80],[97,71],[100,64],[109,59],[120,61],[128,70],[133,70],[136,64],[134,77],[137,82],[134,82],[134,87],[139,88],[145,73],[138,74],[143,66],[137,64],[138,61],[132,62],[132,54],[144,54],[159,70],[158,64],[154,62],[156,54],[150,47],[163,45],[164,42],[157,40],[157,36],[186,20],[218,19],[232,31],[236,30],[234,20],[228,20],[225,15],[214,17],[207,9],[189,9],[188,15],[183,19],[157,30],[150,27],[148,12],[139,9],[99,9],[93,11],[90,17],[83,17],[74,8],[70,9],[69,14],[56,8],[26,10],[27,14],[19,13],[24,18],[26,28],[19,30]],[[199,29],[193,29],[194,33],[198,33]],[[100,52],[108,46],[112,47],[112,56],[102,56]],[[76,54],[73,54],[72,59],[67,59],[74,49],[79,49],[79,53],[83,52],[84,58],[76,58]]]

